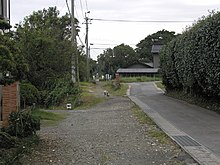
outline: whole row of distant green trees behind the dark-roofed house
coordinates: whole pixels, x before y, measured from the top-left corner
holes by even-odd
[[[141,40],[136,45],[136,49],[125,44],[115,46],[113,49],[106,49],[98,56],[99,74],[114,75],[119,68],[126,68],[137,62],[152,62],[151,49],[154,44],[153,40],[160,38],[160,43],[165,45],[176,36],[175,32],[161,30]]]

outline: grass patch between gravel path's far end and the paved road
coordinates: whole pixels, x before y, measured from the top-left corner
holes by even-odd
[[[115,86],[114,81],[102,82],[102,87],[107,90],[110,95],[125,96],[128,90],[128,84],[121,83],[119,87]]]

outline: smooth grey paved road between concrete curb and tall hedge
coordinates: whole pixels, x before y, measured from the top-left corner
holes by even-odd
[[[132,83],[130,95],[220,158],[220,115],[165,96],[154,83]]]

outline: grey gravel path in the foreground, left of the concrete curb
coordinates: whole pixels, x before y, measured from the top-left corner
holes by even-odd
[[[100,88],[96,90],[99,94],[102,92]],[[176,145],[160,144],[149,137],[146,130],[152,126],[138,122],[131,111],[133,105],[127,97],[111,96],[108,101],[88,110],[65,111],[68,117],[64,121],[41,128],[42,142],[31,155],[22,159],[23,164],[194,163]]]

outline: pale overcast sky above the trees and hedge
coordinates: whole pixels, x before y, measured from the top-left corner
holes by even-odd
[[[71,5],[71,0],[67,0]],[[19,23],[33,11],[57,6],[61,15],[67,12],[66,0],[11,0],[11,23]],[[75,0],[75,15],[80,21],[80,38],[85,40],[85,12],[91,19],[133,21],[191,21],[181,23],[108,22],[92,20],[89,25],[91,57],[121,43],[135,48],[142,39],[159,30],[181,33],[186,26],[209,11],[220,10],[220,0]]]

